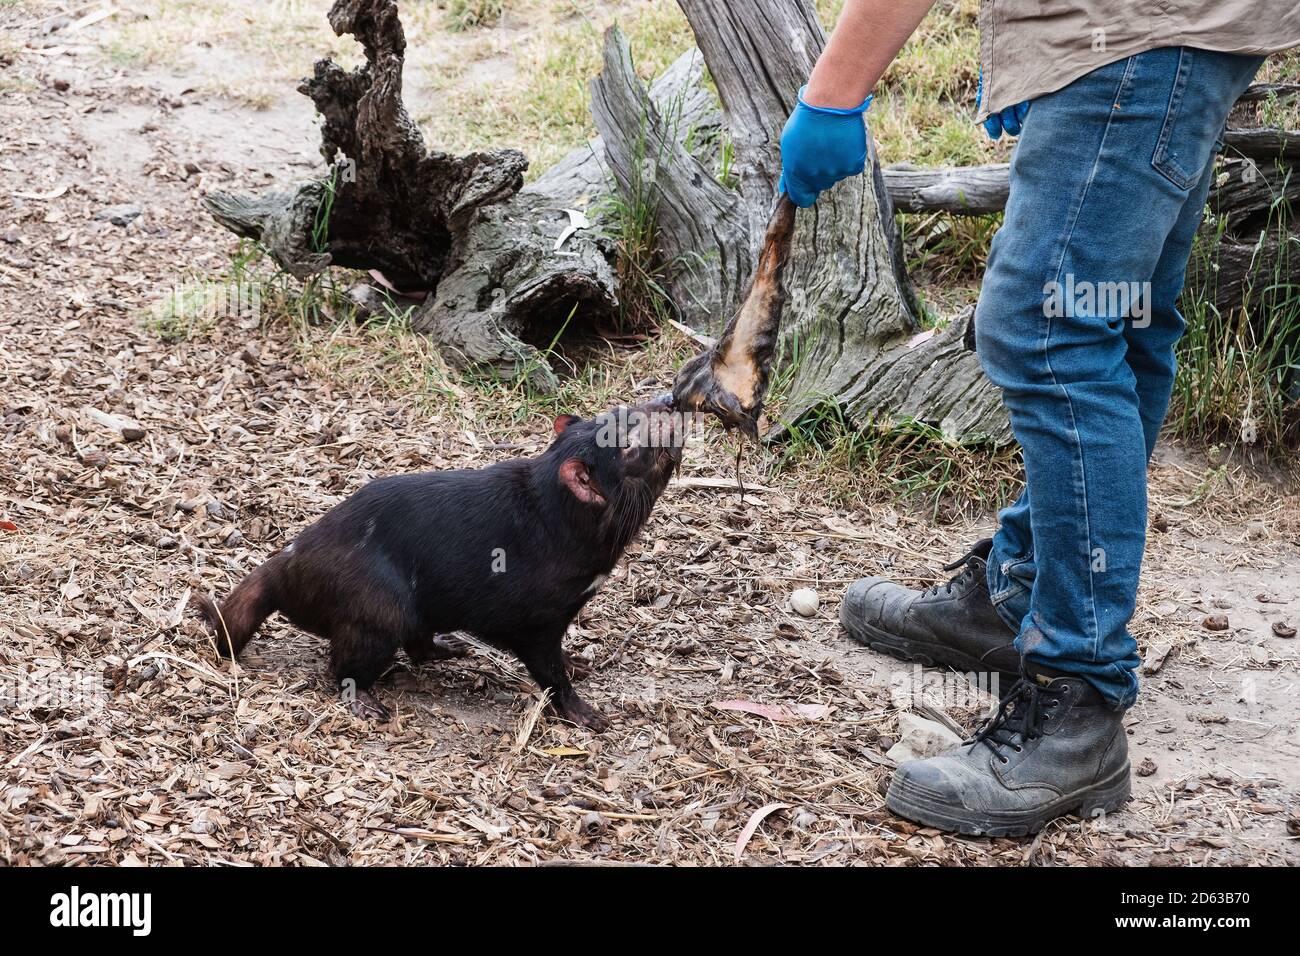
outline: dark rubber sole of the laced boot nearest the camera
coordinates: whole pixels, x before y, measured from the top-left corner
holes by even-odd
[[[1114,813],[1131,796],[1132,783],[1128,763],[1105,780],[1062,795],[1053,803],[1032,810],[1008,810],[987,813],[953,806],[941,800],[931,799],[915,784],[902,784],[897,778],[889,784],[885,806],[916,823],[932,826],[966,836],[1028,836],[1036,834],[1049,821],[1066,814],[1089,819],[1101,813]]]

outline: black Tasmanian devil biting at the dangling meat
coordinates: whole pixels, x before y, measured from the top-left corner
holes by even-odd
[[[650,516],[681,459],[671,398],[595,419],[555,419],[536,458],[369,483],[244,578],[196,602],[228,656],[274,611],[330,643],[352,711],[387,719],[370,685],[398,648],[439,656],[437,635],[468,631],[510,650],[551,706],[607,722],[569,684],[569,622]]]

